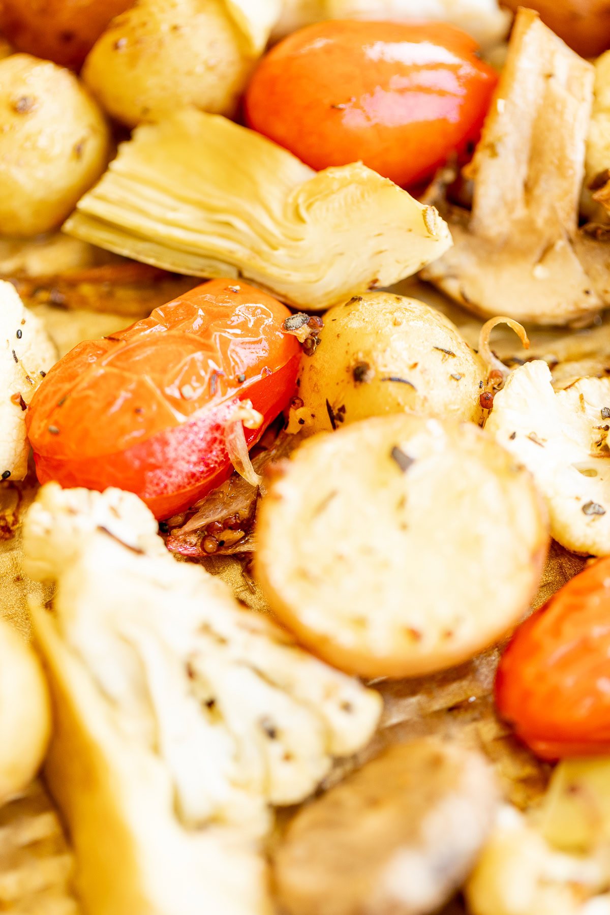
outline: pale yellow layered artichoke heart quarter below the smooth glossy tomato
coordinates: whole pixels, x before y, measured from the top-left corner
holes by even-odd
[[[242,275],[305,309],[397,283],[452,244],[433,207],[361,163],[316,173],[190,110],[138,127],[64,231],[181,274]]]

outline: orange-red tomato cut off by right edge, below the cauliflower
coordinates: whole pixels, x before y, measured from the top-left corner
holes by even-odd
[[[542,759],[610,753],[610,557],[519,627],[499,664],[496,702]]]

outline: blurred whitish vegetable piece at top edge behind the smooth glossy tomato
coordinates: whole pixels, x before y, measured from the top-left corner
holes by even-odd
[[[273,38],[326,19],[371,19],[381,22],[449,22],[463,28],[482,46],[493,48],[506,38],[507,10],[496,0],[284,0]]]

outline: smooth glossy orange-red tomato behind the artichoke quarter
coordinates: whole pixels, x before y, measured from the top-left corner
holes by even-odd
[[[476,48],[444,23],[317,23],[262,59],[246,117],[312,168],[361,160],[411,185],[480,131],[498,76]]]

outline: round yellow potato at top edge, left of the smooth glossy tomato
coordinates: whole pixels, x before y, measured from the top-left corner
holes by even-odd
[[[220,0],[142,0],[96,42],[82,77],[102,108],[133,127],[189,105],[234,113],[253,62]]]

